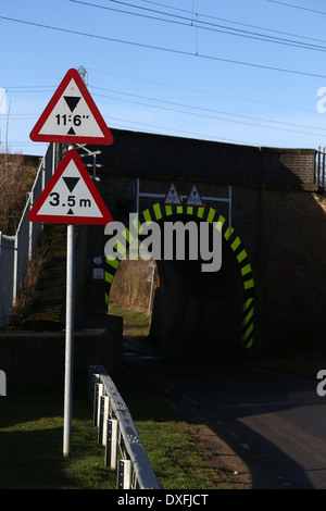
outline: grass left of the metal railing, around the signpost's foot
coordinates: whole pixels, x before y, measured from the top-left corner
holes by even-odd
[[[74,400],[72,451],[63,457],[63,402],[46,394],[0,398],[0,489],[110,489],[90,403]]]

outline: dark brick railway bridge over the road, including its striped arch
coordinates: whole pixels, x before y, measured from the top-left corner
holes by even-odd
[[[248,147],[111,130],[96,154],[98,189],[113,220],[220,222],[222,266],[156,261],[151,336],[171,349],[240,353],[318,349],[325,338],[326,202],[313,149]],[[92,154],[78,150],[85,163]],[[166,205],[171,184],[181,204]],[[189,205],[196,186],[202,205]],[[88,226],[87,311],[101,311],[120,260],[103,226]],[[126,230],[126,249],[130,241]],[[95,278],[102,272],[102,278]],[[103,298],[105,297],[105,298]],[[110,312],[110,310],[109,310]]]

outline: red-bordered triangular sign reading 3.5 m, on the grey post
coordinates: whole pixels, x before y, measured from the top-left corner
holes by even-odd
[[[70,150],[28,213],[30,222],[109,224],[112,221],[77,151]]]

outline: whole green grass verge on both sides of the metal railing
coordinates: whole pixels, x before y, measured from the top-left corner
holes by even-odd
[[[159,397],[139,397],[135,388],[122,395],[162,489],[227,485],[226,474],[196,440],[196,425]],[[90,402],[80,396],[73,402],[71,456],[64,458],[61,396],[25,391],[0,398],[0,489],[116,488],[116,472],[104,468]]]

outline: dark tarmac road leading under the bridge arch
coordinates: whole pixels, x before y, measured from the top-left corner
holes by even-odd
[[[317,395],[317,379],[166,354],[129,341],[124,360],[230,445],[250,466],[253,488],[326,488],[326,396]]]

